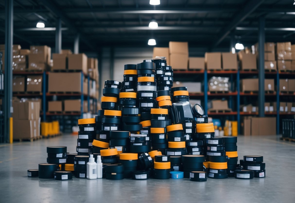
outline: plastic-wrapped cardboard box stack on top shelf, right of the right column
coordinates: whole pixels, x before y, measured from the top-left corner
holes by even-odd
[[[278,70],[291,70],[291,42],[278,42],[276,44],[276,57]]]

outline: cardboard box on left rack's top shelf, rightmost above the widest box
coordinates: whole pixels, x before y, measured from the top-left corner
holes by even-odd
[[[85,54],[69,54],[68,55],[68,69],[82,70],[87,73],[87,56]]]

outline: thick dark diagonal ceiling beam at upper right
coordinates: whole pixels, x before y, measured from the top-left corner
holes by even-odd
[[[240,24],[243,20],[245,20],[248,15],[250,15],[255,9],[257,9],[264,0],[250,0],[247,1],[245,6],[238,11],[232,20],[222,31],[220,32],[217,41],[213,43],[213,48],[216,47],[237,25]]]

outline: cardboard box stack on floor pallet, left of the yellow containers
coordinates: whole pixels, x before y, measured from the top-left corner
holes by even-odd
[[[12,102],[13,138],[34,138],[40,135],[40,103]]]

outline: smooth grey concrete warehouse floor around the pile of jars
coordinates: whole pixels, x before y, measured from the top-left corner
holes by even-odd
[[[46,162],[46,146],[75,153],[77,136],[0,145],[0,202],[295,202],[295,144],[278,136],[239,136],[239,159],[262,155],[266,178],[144,181],[78,179],[55,181],[27,177],[27,169]]]

